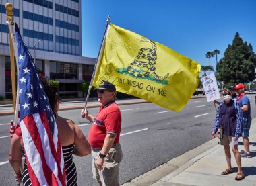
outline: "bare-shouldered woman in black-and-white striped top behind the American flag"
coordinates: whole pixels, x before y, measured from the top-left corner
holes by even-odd
[[[59,140],[62,146],[67,185],[77,185],[77,173],[72,154],[75,154],[76,156],[86,156],[90,154],[90,144],[88,143],[88,140],[86,140],[82,130],[80,130],[72,120],[58,116],[61,99],[59,98],[57,87],[46,81],[46,79],[41,78],[41,81],[44,85],[44,91],[49,98],[53,114],[55,115]],[[11,140],[9,162],[15,172],[16,181],[22,182],[23,185],[26,186],[30,185],[31,181],[26,160],[24,162],[24,171],[22,173],[20,171],[22,155],[25,156],[24,144],[22,141],[22,132],[20,127],[18,127]]]

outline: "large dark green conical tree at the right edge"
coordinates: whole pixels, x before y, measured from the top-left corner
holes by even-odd
[[[251,82],[255,80],[255,66],[256,56],[253,46],[243,42],[236,32],[232,45],[228,45],[224,57],[216,66],[217,79],[229,85]]]

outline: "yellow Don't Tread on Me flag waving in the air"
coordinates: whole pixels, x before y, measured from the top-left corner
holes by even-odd
[[[108,25],[93,86],[102,80],[117,91],[180,111],[198,86],[201,65],[174,50]]]

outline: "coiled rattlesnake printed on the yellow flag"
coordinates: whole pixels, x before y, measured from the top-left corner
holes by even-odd
[[[127,71],[135,77],[153,77],[159,81],[166,79],[169,76],[167,73],[164,77],[156,74],[156,44],[147,38],[141,38],[140,42],[150,42],[152,48],[141,48],[139,54],[134,61],[127,66]]]

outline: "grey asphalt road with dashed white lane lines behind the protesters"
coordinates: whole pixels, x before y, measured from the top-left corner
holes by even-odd
[[[255,97],[249,95],[252,118],[256,117]],[[211,140],[216,109],[205,98],[190,99],[180,112],[170,111],[153,103],[121,105],[123,124],[121,146],[123,161],[120,183],[125,183],[152,170],[205,142]],[[90,108],[95,115],[98,108]],[[73,120],[88,136],[91,124],[79,116],[80,110],[60,111],[59,115]],[[12,116],[0,117],[0,181],[15,185],[9,154],[9,121]],[[92,156],[74,157],[78,185],[97,185],[92,179]]]

